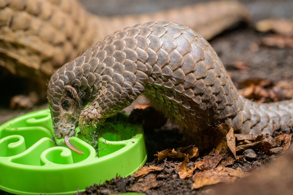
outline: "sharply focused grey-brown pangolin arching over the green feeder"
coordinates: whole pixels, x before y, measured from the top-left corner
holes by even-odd
[[[243,98],[211,45],[171,22],[137,24],[110,34],[59,68],[47,94],[57,137],[72,136],[72,125],[79,121],[90,139],[89,126],[142,94],[197,144],[201,132],[219,122],[243,134],[271,134],[292,124],[292,100],[259,104]],[[64,100],[69,101],[66,109]]]

